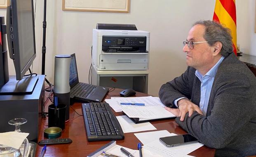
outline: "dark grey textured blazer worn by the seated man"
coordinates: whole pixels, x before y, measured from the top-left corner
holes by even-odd
[[[199,106],[200,80],[195,68],[163,84],[159,91],[164,105],[175,107],[174,100],[190,99]],[[196,111],[185,120],[175,119],[201,143],[216,148],[216,156],[256,155],[256,77],[231,53],[218,67],[206,116]]]

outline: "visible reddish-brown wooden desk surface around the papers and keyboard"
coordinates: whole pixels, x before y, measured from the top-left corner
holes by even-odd
[[[110,92],[110,95],[118,95],[121,89],[115,89],[113,92]],[[137,92],[136,96],[148,96],[145,93]],[[110,96],[106,96],[107,99]],[[82,114],[81,103],[75,103],[72,107],[79,114]],[[72,139],[72,143],[69,144],[58,144],[58,145],[48,145],[47,150],[45,152],[45,157],[86,157],[91,152],[94,152],[101,146],[105,145],[109,141],[87,141],[85,125],[83,116],[79,116],[75,113],[73,109],[70,108],[70,118],[66,123],[65,129],[62,131],[62,135],[59,138],[70,138]],[[122,112],[115,112],[115,116],[124,115]],[[161,120],[161,121],[153,121],[151,122],[157,130],[168,130],[170,133],[175,134],[185,134],[186,132],[178,126],[178,124],[174,121],[174,119]],[[48,127],[48,118],[42,119],[41,128],[39,132],[39,141],[44,138],[44,129]],[[151,130],[152,131],[152,130]],[[144,132],[150,132],[144,131]],[[117,140],[117,144],[120,146],[128,147],[136,150],[136,144],[139,142],[134,136],[134,132],[125,133],[123,140]],[[43,146],[37,146],[36,149],[36,157],[40,156]],[[213,157],[215,153],[215,149],[208,148],[203,146],[189,155],[196,157]]]

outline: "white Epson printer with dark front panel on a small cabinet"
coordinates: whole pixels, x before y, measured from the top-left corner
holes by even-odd
[[[98,23],[96,28],[92,33],[92,65],[96,70],[148,70],[149,32],[122,24]]]

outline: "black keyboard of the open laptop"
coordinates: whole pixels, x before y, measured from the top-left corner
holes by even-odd
[[[70,95],[86,98],[94,88],[96,88],[95,85],[79,82],[78,86],[71,91]]]

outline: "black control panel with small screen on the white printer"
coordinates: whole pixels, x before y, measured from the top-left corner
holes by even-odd
[[[145,46],[146,36],[102,36],[102,46]]]

